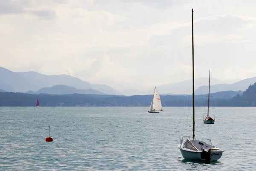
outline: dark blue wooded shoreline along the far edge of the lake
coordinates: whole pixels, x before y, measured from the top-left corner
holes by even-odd
[[[251,85],[248,89],[251,88],[256,87]],[[255,106],[256,91],[255,93],[253,90],[248,91],[243,94],[233,91],[212,93],[210,106]],[[191,95],[160,97],[163,106],[192,106]],[[35,106],[36,99],[39,100],[40,106],[150,106],[152,95],[49,95],[5,92],[0,93],[0,106]],[[207,95],[195,96],[195,106],[207,106]]]

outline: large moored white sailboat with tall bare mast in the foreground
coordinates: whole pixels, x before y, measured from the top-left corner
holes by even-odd
[[[194,93],[194,35],[193,35],[193,9],[192,9],[192,73],[193,73],[193,136],[182,136],[177,148],[184,159],[216,161],[221,158],[223,150],[206,142],[195,139],[195,93]]]

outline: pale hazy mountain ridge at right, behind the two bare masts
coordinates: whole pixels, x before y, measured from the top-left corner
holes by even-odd
[[[236,83],[233,84],[216,84],[216,85],[212,85],[210,86],[210,92],[211,93],[216,93],[216,92],[220,92],[220,91],[245,91],[247,89],[247,87],[250,84],[253,84],[256,82],[256,77],[253,78],[247,78],[241,81],[238,81]],[[209,83],[208,83],[209,84]],[[195,94],[207,94],[209,87],[208,86],[201,86],[198,87],[198,89],[195,90]]]

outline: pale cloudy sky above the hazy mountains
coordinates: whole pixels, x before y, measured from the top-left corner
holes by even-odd
[[[256,76],[255,0],[0,0],[0,66],[114,88]]]

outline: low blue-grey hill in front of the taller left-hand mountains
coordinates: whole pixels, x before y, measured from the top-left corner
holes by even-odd
[[[101,94],[104,95],[104,93],[99,92],[98,90],[93,90],[93,89],[87,89],[87,90],[82,90],[82,89],[76,89],[75,87],[70,87],[66,85],[56,85],[52,87],[44,87],[41,88],[40,90],[34,92],[34,94],[39,94],[39,93],[46,93],[46,94]]]

